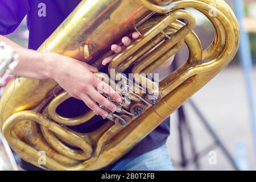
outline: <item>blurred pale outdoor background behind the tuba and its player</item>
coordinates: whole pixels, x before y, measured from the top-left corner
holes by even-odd
[[[234,10],[234,1],[226,2]],[[256,93],[256,0],[243,2],[246,17],[242,19],[242,26],[249,34],[253,66],[245,69],[238,53],[224,71],[192,97],[200,113],[196,113],[195,106],[187,102],[180,113],[172,114],[168,150],[176,170],[255,169],[253,112],[249,102],[253,98],[249,98],[247,93],[250,86],[253,94]],[[214,34],[211,24],[197,11],[190,11],[197,20],[197,35],[204,47],[209,46]],[[27,47],[26,19],[8,37]],[[176,61],[184,62],[187,53],[186,47],[181,49]],[[246,73],[250,71],[252,80],[246,85]],[[167,68],[166,74],[168,72],[170,69]],[[255,97],[253,102],[256,103]],[[183,111],[185,123],[181,123],[178,117],[179,114],[183,115]],[[201,121],[200,114],[206,121]],[[183,133],[183,140],[180,133]]]

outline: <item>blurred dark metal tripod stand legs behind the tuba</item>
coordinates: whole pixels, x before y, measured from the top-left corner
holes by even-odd
[[[208,131],[210,136],[213,138],[214,142],[210,144],[209,146],[205,147],[202,151],[197,151],[195,146],[195,140],[193,138],[193,133],[191,130],[191,127],[189,127],[187,119],[185,118],[185,111],[184,107],[181,106],[178,109],[178,119],[179,119],[179,141],[180,141],[180,154],[181,154],[181,161],[179,162],[180,166],[185,168],[189,164],[194,163],[196,166],[196,169],[200,168],[199,159],[204,156],[208,155],[208,152],[210,150],[213,150],[213,148],[220,147],[226,158],[229,160],[230,164],[233,166],[234,169],[239,170],[236,162],[234,161],[232,155],[229,153],[227,148],[225,147],[224,143],[221,141],[221,139],[218,137],[216,132],[212,129],[212,127],[209,125],[209,122],[204,117],[204,115],[201,113],[199,108],[196,106],[195,102],[192,100],[189,100],[188,103],[192,106],[192,109],[195,111],[197,116],[200,118],[201,123],[205,127],[205,129]],[[185,152],[185,143],[186,139],[188,139],[188,142],[191,147],[192,151],[192,158],[188,158],[188,154]]]

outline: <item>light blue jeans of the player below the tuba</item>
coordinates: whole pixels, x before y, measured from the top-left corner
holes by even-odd
[[[135,158],[121,160],[112,171],[173,171],[166,144]]]

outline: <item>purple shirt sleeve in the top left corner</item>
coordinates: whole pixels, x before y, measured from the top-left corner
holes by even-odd
[[[29,10],[28,0],[0,0],[0,35],[11,34]]]

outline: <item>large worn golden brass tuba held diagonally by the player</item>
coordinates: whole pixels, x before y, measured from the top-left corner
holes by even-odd
[[[206,49],[193,31],[196,21],[187,8],[200,11],[214,27],[213,42]],[[134,31],[141,36],[114,57],[109,72],[95,73],[122,94],[123,102],[117,112],[109,113],[105,125],[90,133],[68,126],[93,118],[92,110],[76,118],[57,113],[71,96],[54,80],[14,77],[9,82],[0,102],[0,127],[22,159],[51,170],[108,166],[224,69],[240,38],[237,19],[223,0],[84,0],[38,51],[60,53],[101,69],[101,61],[112,54],[110,45]],[[179,68],[159,84],[144,76],[184,44],[189,56]],[[132,87],[116,81],[127,68],[138,73]]]

